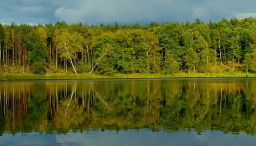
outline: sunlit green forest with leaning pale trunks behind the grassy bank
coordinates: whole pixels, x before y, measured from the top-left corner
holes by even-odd
[[[88,26],[0,23],[0,74],[256,72],[256,18]]]

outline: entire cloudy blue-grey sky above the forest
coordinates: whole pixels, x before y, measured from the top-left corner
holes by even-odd
[[[252,0],[1,0],[0,22],[149,24],[152,21],[209,23],[256,16]]]

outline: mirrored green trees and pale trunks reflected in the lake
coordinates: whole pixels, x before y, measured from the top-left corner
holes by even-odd
[[[254,135],[255,78],[0,83],[0,134],[150,129]]]

